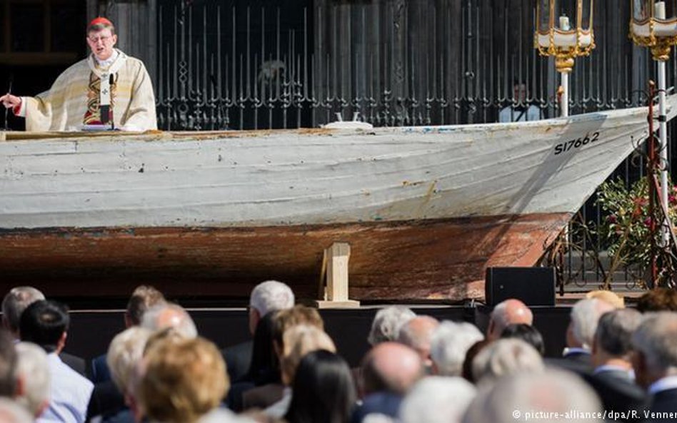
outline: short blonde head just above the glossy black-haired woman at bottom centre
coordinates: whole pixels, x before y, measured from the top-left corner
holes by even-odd
[[[324,330],[311,325],[296,325],[286,330],[284,350],[280,360],[282,382],[291,385],[301,359],[309,352],[316,350],[336,352],[334,341]]]

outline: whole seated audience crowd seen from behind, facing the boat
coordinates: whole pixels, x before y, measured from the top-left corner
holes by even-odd
[[[677,292],[637,307],[591,292],[571,308],[561,357],[523,302],[486,333],[383,307],[351,368],[316,309],[282,282],[251,292],[251,341],[219,350],[154,287],[132,293],[126,329],[86,365],[66,355],[69,310],[33,287],[2,302],[0,422],[484,423],[677,421]]]

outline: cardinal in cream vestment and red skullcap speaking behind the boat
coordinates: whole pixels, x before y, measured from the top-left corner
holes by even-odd
[[[111,21],[96,18],[87,26],[88,58],[56,78],[35,97],[6,94],[0,101],[26,118],[26,131],[74,131],[103,125],[124,131],[157,129],[155,96],[146,66],[115,49]]]

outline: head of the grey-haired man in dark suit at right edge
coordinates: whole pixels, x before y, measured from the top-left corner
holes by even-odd
[[[677,375],[677,313],[648,314],[633,333],[632,345],[637,384],[648,387],[658,379]]]

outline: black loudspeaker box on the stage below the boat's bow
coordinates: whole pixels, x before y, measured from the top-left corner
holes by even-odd
[[[508,298],[555,305],[554,267],[487,267],[484,282],[484,300],[491,307]]]

